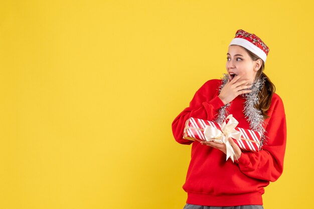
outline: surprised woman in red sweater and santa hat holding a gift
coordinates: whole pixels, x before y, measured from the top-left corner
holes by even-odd
[[[184,208],[263,208],[264,187],[281,175],[286,121],[282,100],[263,73],[268,51],[258,36],[238,30],[228,48],[225,76],[205,82],[173,121],[175,139],[192,143]],[[189,117],[222,123],[228,114],[238,120],[237,127],[262,133],[258,152],[242,151],[229,138],[235,160],[226,161],[226,144],[183,138]]]

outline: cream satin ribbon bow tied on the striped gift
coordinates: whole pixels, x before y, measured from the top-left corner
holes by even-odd
[[[228,123],[226,123],[227,119],[229,119]],[[236,140],[240,140],[241,132],[234,129],[239,124],[239,122],[232,116],[232,114],[229,114],[226,120],[222,123],[221,130],[210,125],[206,125],[204,129],[204,135],[207,141],[215,141],[221,144],[225,143],[227,152],[226,160],[230,157],[232,161],[234,161],[233,156],[235,153],[228,138],[232,137]]]

